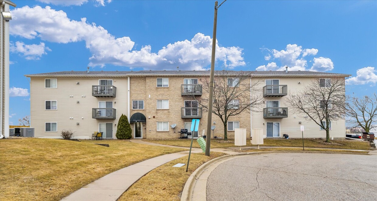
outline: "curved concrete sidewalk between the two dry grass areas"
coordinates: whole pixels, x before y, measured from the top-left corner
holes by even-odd
[[[193,148],[191,151],[191,153],[201,152],[202,150],[198,148]],[[166,154],[127,166],[93,181],[63,198],[62,201],[116,201],[124,191],[149,171],[188,154],[189,151]]]

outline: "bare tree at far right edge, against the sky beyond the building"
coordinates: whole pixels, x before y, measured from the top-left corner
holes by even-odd
[[[377,94],[359,97],[349,97],[346,102],[347,120],[353,127],[361,127],[365,132],[377,127]]]

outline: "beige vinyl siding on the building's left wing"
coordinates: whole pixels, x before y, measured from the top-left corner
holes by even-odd
[[[57,88],[44,88],[44,79],[55,78],[57,78]],[[92,85],[98,85],[99,79],[113,80],[113,85],[116,86],[115,98],[92,96]],[[80,84],[76,84],[77,82]],[[122,113],[127,115],[127,90],[127,78],[31,77],[31,127],[35,128],[35,137],[61,138],[62,130],[72,130],[75,132],[74,138],[89,139],[93,131],[98,131],[99,123],[113,123],[113,138],[116,139],[115,124],[118,124]],[[46,110],[44,102],[46,100],[57,100],[57,110]],[[98,107],[98,101],[113,101],[116,119],[93,119],[92,108]],[[46,132],[45,122],[57,122],[57,132]],[[80,124],[76,125],[76,123]]]

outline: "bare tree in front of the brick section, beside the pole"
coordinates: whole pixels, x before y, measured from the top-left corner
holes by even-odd
[[[259,83],[250,83],[249,71],[215,71],[213,86],[212,113],[222,121],[224,125],[224,140],[228,140],[227,122],[231,116],[241,112],[252,110],[251,106],[262,102],[262,96],[250,95],[250,90]],[[210,78],[205,77],[202,81],[203,94],[209,94]],[[254,90],[254,89],[253,89]],[[191,96],[198,105],[208,112],[208,97]]]

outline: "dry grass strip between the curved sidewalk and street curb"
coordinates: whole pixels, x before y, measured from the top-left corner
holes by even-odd
[[[172,167],[177,163],[187,163],[188,156],[166,163],[134,183],[118,201],[180,200],[183,187],[192,172],[203,163],[223,155],[225,154],[219,152],[212,152],[211,156],[204,156],[203,153],[191,154],[188,172],[185,165],[180,168]]]

